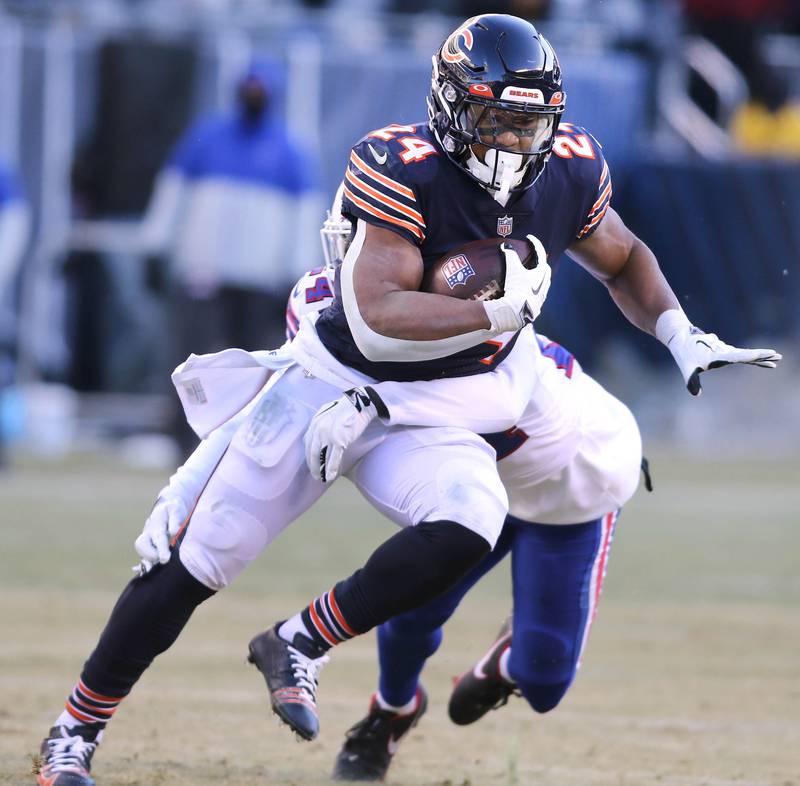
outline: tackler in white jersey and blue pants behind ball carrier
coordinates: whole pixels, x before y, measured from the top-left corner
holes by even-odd
[[[334,202],[333,214],[336,214]],[[341,254],[349,234],[343,217],[325,223],[328,258]],[[287,339],[300,319],[333,301],[331,266],[315,268],[292,290],[286,309]],[[477,671],[459,681],[450,706],[456,723],[471,723],[513,692],[521,692],[539,712],[554,708],[572,683],[584,651],[608,564],[619,509],[633,494],[641,464],[641,440],[630,411],[611,396],[563,347],[537,335],[530,357],[536,378],[530,400],[513,428],[484,434],[495,449],[500,478],[509,496],[509,515],[492,553],[452,590],[416,611],[378,628],[380,687],[367,716],[347,733],[336,760],[334,780],[382,780],[397,744],[427,708],[419,683],[425,661],[442,640],[442,625],[463,596],[507,554],[512,555],[515,646],[511,619],[481,660]],[[488,387],[487,397],[498,390]],[[444,422],[460,410],[458,380],[388,382],[373,390],[392,412],[415,422],[432,400]],[[443,390],[452,388],[455,395]],[[402,409],[401,409],[402,407]],[[307,450],[316,452],[313,421]],[[192,509],[219,457],[231,426],[211,434],[187,465],[159,494],[145,533],[137,543],[142,570],[169,554],[168,532],[177,530]],[[331,468],[335,476],[336,469]],[[649,480],[649,479],[648,479]],[[532,523],[536,522],[536,523]]]

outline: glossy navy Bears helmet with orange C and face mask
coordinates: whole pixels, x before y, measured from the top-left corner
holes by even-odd
[[[433,57],[431,129],[448,157],[490,191],[535,182],[564,106],[555,52],[517,17],[468,19]]]

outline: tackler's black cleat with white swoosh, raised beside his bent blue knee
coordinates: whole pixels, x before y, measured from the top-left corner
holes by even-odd
[[[511,646],[511,618],[500,628],[497,640],[489,651],[453,686],[447,714],[453,723],[467,726],[482,718],[489,710],[496,710],[508,701],[512,694],[520,695],[513,682],[500,674],[500,658]]]

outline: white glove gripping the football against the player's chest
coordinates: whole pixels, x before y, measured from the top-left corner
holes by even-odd
[[[539,238],[528,235],[528,240],[536,253],[536,261],[531,270],[525,268],[519,254],[503,243],[500,250],[506,258],[506,278],[503,283],[503,296],[496,300],[483,301],[486,316],[495,335],[519,330],[533,322],[542,311],[547,292],[550,289],[550,265],[547,254]]]

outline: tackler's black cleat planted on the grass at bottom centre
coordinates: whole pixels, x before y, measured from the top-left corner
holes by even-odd
[[[416,709],[401,715],[381,709],[375,694],[367,717],[345,734],[333,768],[333,780],[382,781],[400,740],[419,723],[428,708],[428,694],[421,685],[416,699]]]

